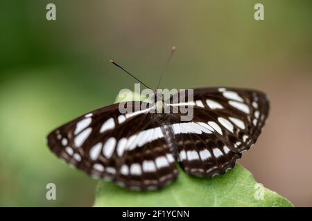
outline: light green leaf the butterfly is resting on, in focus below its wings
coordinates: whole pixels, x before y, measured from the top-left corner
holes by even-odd
[[[177,167],[177,180],[157,191],[130,191],[101,181],[94,206],[293,206],[258,184],[240,164],[209,179],[191,177]]]

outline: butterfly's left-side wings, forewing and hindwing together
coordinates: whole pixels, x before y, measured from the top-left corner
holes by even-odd
[[[132,113],[121,114],[113,104],[60,126],[48,135],[49,148],[93,177],[128,189],[159,189],[177,177],[173,155],[150,108],[129,104]]]

